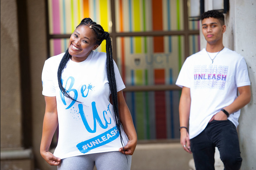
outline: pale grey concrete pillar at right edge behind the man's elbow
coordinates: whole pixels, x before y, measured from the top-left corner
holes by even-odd
[[[239,118],[238,136],[243,163],[241,169],[255,169],[256,164],[256,0],[232,0],[235,4],[234,50],[244,56],[251,81],[252,99]]]

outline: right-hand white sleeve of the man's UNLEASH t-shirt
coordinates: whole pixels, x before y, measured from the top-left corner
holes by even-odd
[[[242,58],[237,64],[235,79],[237,87],[251,85],[247,65],[244,58]]]

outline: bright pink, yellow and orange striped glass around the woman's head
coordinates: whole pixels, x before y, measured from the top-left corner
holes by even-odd
[[[48,0],[49,33],[72,34],[83,18],[91,18],[105,31],[111,33],[110,0]],[[53,40],[50,55],[57,55],[68,48],[68,42]],[[62,49],[65,49],[64,51]],[[96,51],[106,51],[103,41]]]

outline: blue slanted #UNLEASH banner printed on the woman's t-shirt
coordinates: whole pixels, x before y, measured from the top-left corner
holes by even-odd
[[[80,152],[86,153],[88,151],[91,151],[92,149],[98,148],[111,141],[114,141],[119,135],[120,134],[115,126],[94,138],[78,143],[76,147]]]

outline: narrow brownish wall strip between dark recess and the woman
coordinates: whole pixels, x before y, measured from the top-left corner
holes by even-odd
[[[31,76],[31,112],[32,112],[32,135],[33,153],[35,164],[42,170],[49,170],[46,161],[40,155],[40,142],[44,119],[45,102],[42,95],[42,69],[47,58],[47,34],[44,0],[27,0],[28,12],[28,41]],[[56,169],[56,167],[54,167]]]

